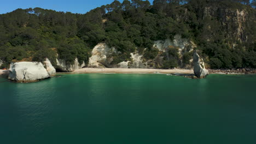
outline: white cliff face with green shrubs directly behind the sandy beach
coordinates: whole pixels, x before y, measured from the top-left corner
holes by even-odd
[[[169,59],[171,56],[168,55],[169,49],[177,49],[179,59],[179,68],[192,68],[193,57],[189,64],[182,62],[184,53],[191,52],[196,45],[188,40],[181,37],[181,35],[175,35],[174,39],[157,40],[154,42],[153,49],[157,49],[158,55],[153,59],[145,59],[144,53],[139,54],[137,51],[130,53],[130,61],[120,62],[118,64],[111,64],[113,57],[110,57],[113,53],[120,53],[114,47],[109,47],[106,43],[97,44],[91,52],[89,58],[88,67],[91,68],[159,68],[163,64],[163,59]]]

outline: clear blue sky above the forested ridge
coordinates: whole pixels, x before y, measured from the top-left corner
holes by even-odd
[[[70,11],[84,14],[91,9],[112,3],[114,0],[2,0],[0,2],[0,14],[9,13],[15,9],[43,8],[56,11]],[[119,2],[123,2],[120,0]],[[153,0],[149,0],[153,2]]]

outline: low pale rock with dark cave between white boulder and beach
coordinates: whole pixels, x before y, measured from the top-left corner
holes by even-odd
[[[65,60],[58,59],[58,58],[56,59],[56,62],[57,62],[56,69],[63,71],[63,72],[71,72],[76,69],[85,67],[85,63],[83,62],[80,65],[77,58],[74,59],[74,64],[67,64]]]

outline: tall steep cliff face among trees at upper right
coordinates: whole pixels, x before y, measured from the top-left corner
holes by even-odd
[[[205,8],[203,19],[217,19],[226,38],[246,42],[248,37],[252,37],[248,28],[252,28],[252,23],[255,22],[253,11],[253,9],[234,9],[214,5]]]

